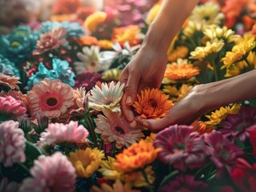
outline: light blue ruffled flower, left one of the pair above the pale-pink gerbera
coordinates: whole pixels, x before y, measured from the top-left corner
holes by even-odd
[[[52,70],[48,70],[43,62],[39,63],[39,70],[35,74],[32,74],[28,79],[26,90],[31,90],[33,86],[38,85],[44,78],[49,78],[51,80],[55,79],[55,73]]]

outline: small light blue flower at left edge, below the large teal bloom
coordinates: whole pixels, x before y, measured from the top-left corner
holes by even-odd
[[[3,58],[0,54],[0,73],[6,74],[9,76],[20,77],[19,71],[13,62],[10,62],[9,59]]]

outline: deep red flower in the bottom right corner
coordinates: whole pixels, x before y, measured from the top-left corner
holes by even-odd
[[[256,163],[251,166],[245,159],[238,158],[230,174],[234,184],[243,192],[255,191]]]

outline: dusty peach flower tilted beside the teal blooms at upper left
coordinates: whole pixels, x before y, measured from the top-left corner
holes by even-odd
[[[36,50],[34,54],[43,54],[48,50],[55,50],[59,46],[65,44],[67,40],[64,36],[67,31],[63,27],[51,30],[47,34],[43,34],[36,43]]]

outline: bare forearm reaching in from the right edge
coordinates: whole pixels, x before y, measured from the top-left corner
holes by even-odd
[[[201,86],[201,101],[205,111],[230,103],[256,98],[256,70],[219,82]]]

